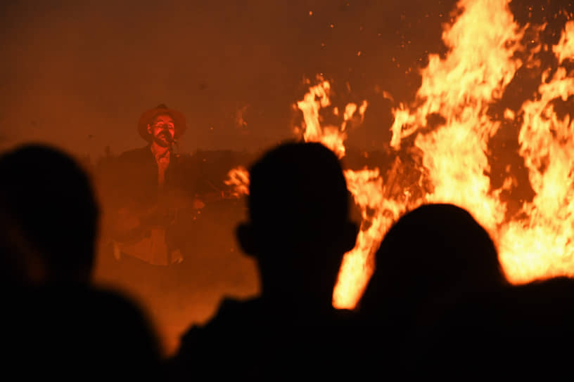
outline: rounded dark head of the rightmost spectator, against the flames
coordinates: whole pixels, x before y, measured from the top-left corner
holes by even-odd
[[[505,284],[497,250],[470,213],[452,204],[427,204],[406,213],[385,235],[361,310],[403,311],[451,294]]]

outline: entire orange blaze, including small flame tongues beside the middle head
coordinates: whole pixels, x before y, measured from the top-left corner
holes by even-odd
[[[416,106],[401,104],[393,110],[390,145],[404,150],[404,138],[413,136],[414,147],[408,149],[421,153],[420,168],[405,171],[397,151],[390,169],[345,171],[363,222],[333,293],[337,308],[355,306],[372,272],[372,254],[393,221],[426,202],[457,204],[470,211],[497,243],[511,282],[574,275],[574,126],[570,116],[559,117],[555,107],[557,99],[566,101],[574,95],[574,77],[567,70],[568,61],[574,60],[574,22],[566,24],[555,46],[526,48],[521,43],[525,28],[514,21],[509,2],[459,1],[459,16],[442,34],[449,52],[445,58],[429,55],[428,66],[421,70]],[[535,60],[540,51],[552,53],[557,67],[544,72],[531,100],[503,115],[493,113],[521,67],[542,65]],[[319,110],[331,105],[330,90],[329,81],[321,79],[297,103],[304,118],[301,132],[305,140],[324,143],[343,158],[347,121],[353,116],[362,120],[367,103],[347,105],[343,116],[333,108],[342,123],[321,126]],[[495,174],[489,145],[504,118],[520,126],[518,154],[534,192],[532,200],[521,202],[512,216],[501,195],[517,187],[516,178],[506,173],[496,189],[491,182]],[[429,121],[439,122],[430,126]],[[418,179],[406,185],[401,181],[404,173],[415,173]],[[243,174],[243,178],[231,176],[246,180]],[[418,192],[412,185],[419,187]]]

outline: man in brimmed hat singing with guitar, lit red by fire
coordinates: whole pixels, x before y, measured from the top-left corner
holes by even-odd
[[[124,152],[116,166],[117,195],[113,216],[116,258],[127,254],[153,265],[181,263],[183,257],[172,232],[177,213],[201,208],[192,199],[189,174],[174,145],[186,130],[184,114],[158,105],[141,115],[138,131],[145,147]],[[187,175],[187,176],[186,176]]]

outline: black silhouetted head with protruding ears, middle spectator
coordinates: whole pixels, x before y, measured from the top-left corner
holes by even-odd
[[[342,256],[357,235],[349,200],[338,158],[319,143],[279,145],[253,165],[249,222],[237,233],[260,266],[264,294],[328,296],[331,303]]]

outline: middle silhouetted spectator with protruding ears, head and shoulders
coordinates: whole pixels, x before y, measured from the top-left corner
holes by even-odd
[[[333,342],[343,320],[332,306],[357,234],[348,216],[345,178],[329,149],[286,143],[264,154],[250,169],[248,222],[236,230],[259,266],[261,294],[224,299],[208,324],[192,327],[170,362],[175,378],[333,372],[332,357],[348,351]]]

